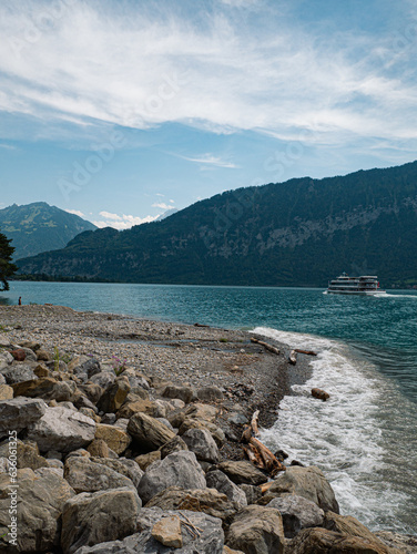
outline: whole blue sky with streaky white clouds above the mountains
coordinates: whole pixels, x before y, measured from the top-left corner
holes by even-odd
[[[129,228],[417,158],[413,0],[2,0],[0,208]]]

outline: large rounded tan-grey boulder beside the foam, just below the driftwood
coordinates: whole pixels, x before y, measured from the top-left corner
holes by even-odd
[[[315,502],[324,511],[339,512],[335,493],[323,472],[315,465],[287,468],[274,481],[274,484],[264,495],[263,504],[267,504],[275,496],[283,493],[297,494]]]

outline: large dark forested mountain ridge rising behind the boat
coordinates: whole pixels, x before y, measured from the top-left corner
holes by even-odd
[[[385,287],[413,281],[417,162],[226,192],[162,222],[82,233],[18,265],[128,283],[325,286],[342,271],[376,274]]]

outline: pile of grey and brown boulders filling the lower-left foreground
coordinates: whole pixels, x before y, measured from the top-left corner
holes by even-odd
[[[288,465],[272,481],[225,459],[220,388],[58,359],[40,340],[2,345],[0,552],[400,552],[338,514],[319,469]]]

